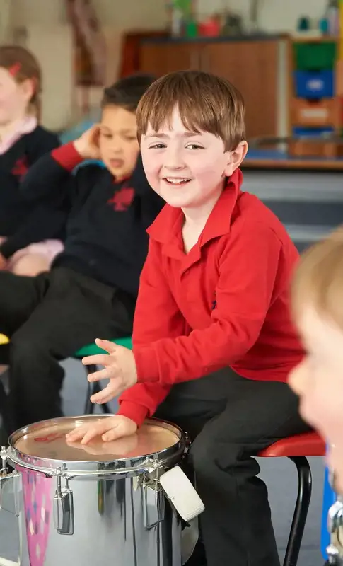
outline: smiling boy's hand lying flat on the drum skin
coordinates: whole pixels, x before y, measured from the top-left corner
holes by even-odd
[[[69,432],[66,435],[66,441],[81,441],[81,444],[87,444],[93,438],[100,436],[103,441],[108,442],[122,437],[129,437],[136,432],[137,428],[136,423],[128,417],[115,415],[114,417],[107,417],[83,424],[81,427]]]

